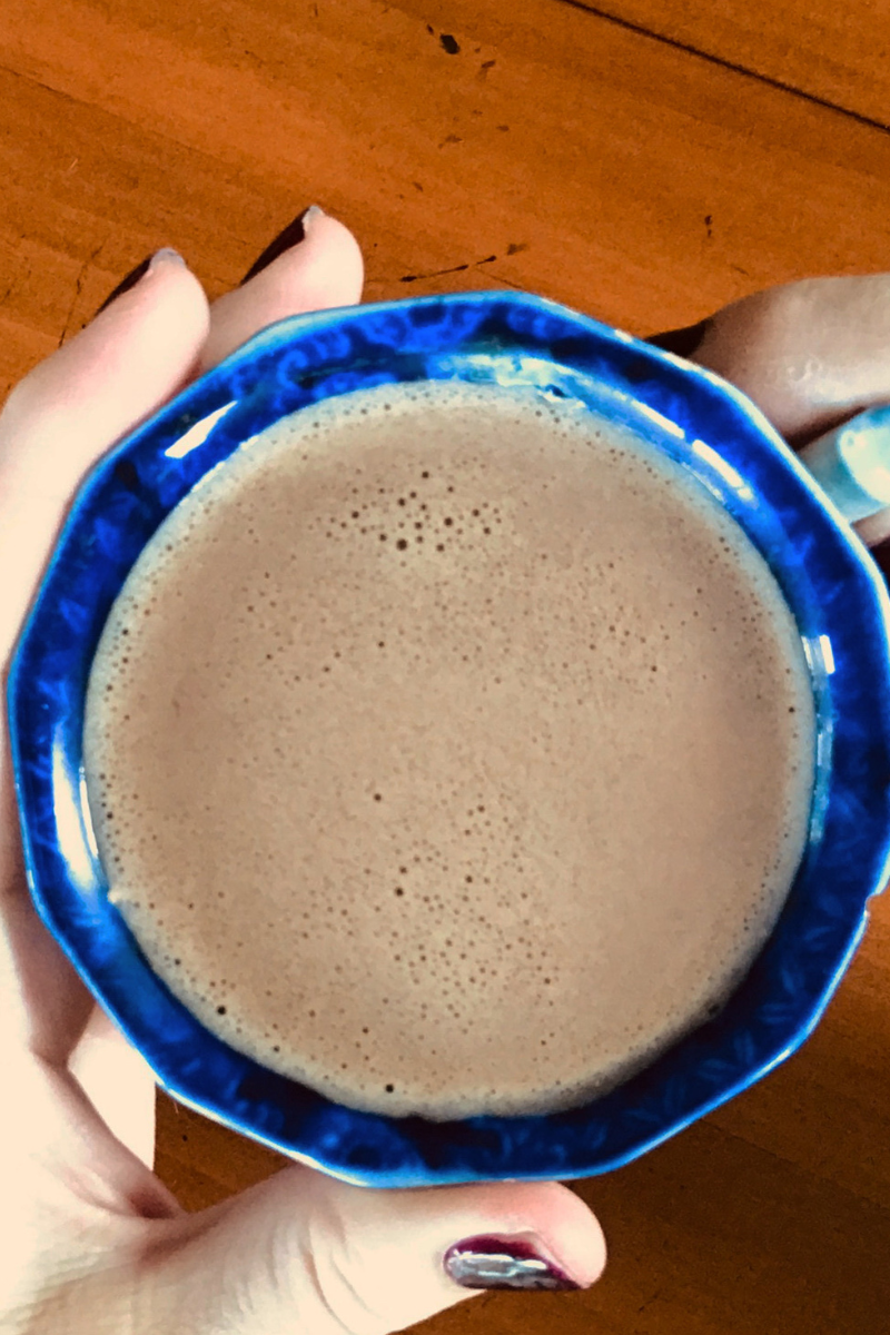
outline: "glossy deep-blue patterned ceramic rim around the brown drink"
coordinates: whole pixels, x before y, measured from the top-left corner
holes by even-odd
[[[818,710],[810,838],[779,922],[725,1011],[610,1095],[551,1116],[432,1123],[338,1107],[208,1033],[107,901],[87,808],[83,705],[108,610],[147,539],[279,417],[386,382],[524,387],[611,414],[689,469],[769,561]],[[758,410],[717,376],[522,294],[432,296],[272,326],[111,451],[81,487],[19,643],[9,721],[40,916],[176,1099],[348,1181],[571,1179],[643,1153],[810,1033],[890,852],[890,601],[877,567]]]

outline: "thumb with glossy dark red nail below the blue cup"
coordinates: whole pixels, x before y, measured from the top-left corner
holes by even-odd
[[[294,1165],[155,1227],[149,1306],[159,1330],[189,1335],[387,1335],[472,1287],[587,1288],[606,1263],[596,1219],[555,1181],[379,1191]],[[511,1240],[540,1260],[511,1263]],[[475,1267],[483,1250],[495,1256]]]

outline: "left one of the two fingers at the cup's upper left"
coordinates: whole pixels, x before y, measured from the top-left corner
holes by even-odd
[[[207,298],[161,252],[145,276],[21,380],[0,414],[0,663],[83,475],[192,372]]]

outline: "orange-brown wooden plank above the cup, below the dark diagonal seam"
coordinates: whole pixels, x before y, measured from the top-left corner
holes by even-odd
[[[216,295],[314,198],[371,299],[518,284],[634,332],[887,263],[886,135],[554,0],[188,13],[4,11],[0,315],[35,355],[152,246]]]

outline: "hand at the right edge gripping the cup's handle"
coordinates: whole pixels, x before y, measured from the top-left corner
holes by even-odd
[[[890,403],[890,274],[770,287],[648,342],[738,386],[799,450]],[[890,575],[890,507],[854,529]]]

